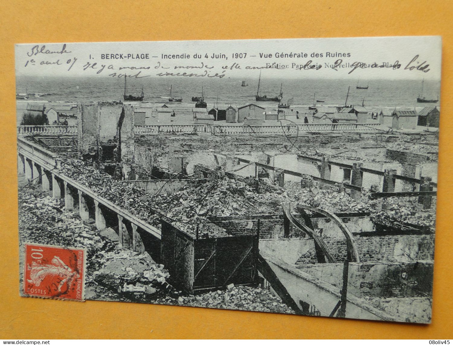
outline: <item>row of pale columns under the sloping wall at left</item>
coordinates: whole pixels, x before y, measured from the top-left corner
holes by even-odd
[[[44,169],[41,165],[24,157],[22,154],[18,154],[18,172],[19,174],[25,174],[28,182],[41,183],[43,191],[52,191],[54,199],[64,198],[64,206],[67,210],[73,210],[78,207],[79,216],[82,220],[94,218],[97,229],[103,230],[106,228],[107,209],[99,201],[71,186],[51,171]],[[120,246],[140,253],[145,252],[145,246],[138,232],[139,227],[118,214],[116,216]],[[109,225],[115,226],[113,224]]]

